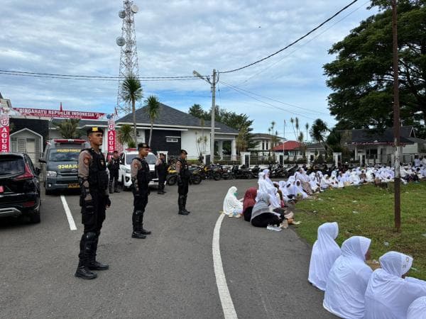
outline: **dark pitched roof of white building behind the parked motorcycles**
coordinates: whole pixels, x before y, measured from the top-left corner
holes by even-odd
[[[146,106],[136,110],[136,123],[138,123],[138,125],[151,125],[151,121],[145,110]],[[119,118],[116,123],[133,123],[133,114],[127,114],[126,116]],[[211,125],[210,123],[210,121],[204,121],[204,127],[209,128]],[[196,118],[195,116],[179,111],[176,108],[172,108],[163,103],[160,103],[160,116],[158,116],[158,118],[154,121],[154,125],[181,125],[197,128],[202,126],[200,118]],[[217,133],[239,133],[238,130],[216,121],[214,122],[214,127],[217,128]]]

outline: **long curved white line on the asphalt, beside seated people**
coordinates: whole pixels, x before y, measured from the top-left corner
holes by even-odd
[[[224,267],[222,265],[222,257],[220,256],[220,226],[224,219],[224,214],[220,214],[217,218],[216,225],[213,230],[213,265],[214,275],[216,276],[217,290],[219,291],[220,302],[222,303],[222,310],[224,311],[225,319],[238,318],[232,302],[231,294],[229,293],[228,285],[226,284],[226,277]]]

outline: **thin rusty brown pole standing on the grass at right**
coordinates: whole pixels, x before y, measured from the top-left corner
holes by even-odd
[[[392,0],[392,34],[393,34],[393,133],[395,144],[395,229],[401,228],[401,201],[400,201],[400,107],[398,84],[398,33],[397,33],[396,0]]]

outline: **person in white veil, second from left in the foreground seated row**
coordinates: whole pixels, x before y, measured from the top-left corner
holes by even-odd
[[[364,318],[364,294],[373,272],[365,263],[371,240],[353,236],[330,269],[322,306],[341,318]]]

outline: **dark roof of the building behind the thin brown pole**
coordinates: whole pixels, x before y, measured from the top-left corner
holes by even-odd
[[[342,141],[346,144],[391,144],[393,143],[393,128],[386,128],[383,132],[377,130],[342,130]],[[412,144],[415,138],[413,126],[400,127],[400,142]]]

